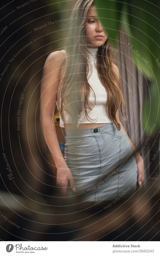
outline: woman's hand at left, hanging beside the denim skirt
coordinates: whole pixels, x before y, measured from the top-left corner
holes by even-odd
[[[66,197],[68,180],[70,182],[70,186],[72,187],[71,188],[72,191],[76,192],[73,175],[71,173],[71,170],[68,168],[68,166],[66,166],[66,164],[64,164],[61,167],[57,167],[56,185],[58,187],[62,188],[62,190],[61,190],[62,197]]]

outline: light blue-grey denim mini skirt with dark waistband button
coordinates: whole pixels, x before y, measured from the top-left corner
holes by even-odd
[[[65,132],[65,162],[76,188],[72,192],[68,182],[67,197],[80,195],[83,202],[118,201],[135,193],[137,163],[122,128],[106,123]]]

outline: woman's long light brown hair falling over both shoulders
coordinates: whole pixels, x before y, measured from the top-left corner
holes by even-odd
[[[59,76],[57,106],[64,123],[66,123],[64,111],[71,115],[73,129],[77,129],[77,117],[82,111],[82,107],[85,109],[87,119],[89,118],[89,122],[92,122],[87,112],[87,108],[92,109],[89,106],[89,94],[92,88],[87,81],[89,56],[87,48],[82,47],[88,45],[85,23],[92,5],[95,5],[94,0],[78,0],[76,2],[72,10],[70,26],[65,29],[66,38],[62,43],[66,57],[62,62]],[[122,106],[125,106],[125,102],[120,78],[115,74],[115,68],[113,68],[113,51],[111,49],[108,38],[102,46],[98,46],[96,66],[99,79],[107,91],[106,113],[120,130],[121,125],[117,121],[116,111],[120,106],[124,116]]]

